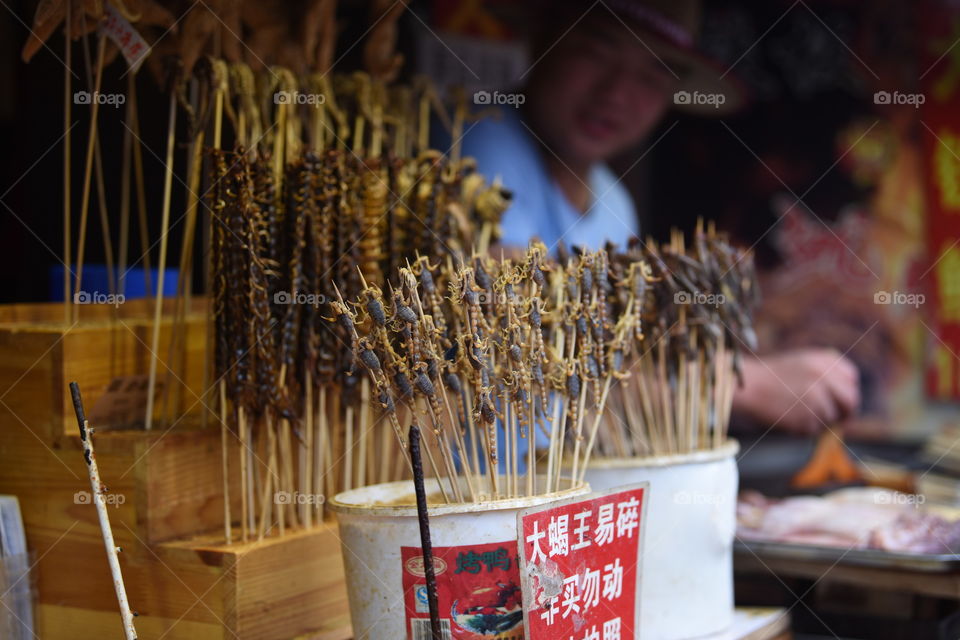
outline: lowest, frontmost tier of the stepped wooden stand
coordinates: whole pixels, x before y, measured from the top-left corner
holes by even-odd
[[[343,565],[332,524],[283,538],[230,547],[197,538],[121,557],[140,638],[288,640],[352,637]],[[109,638],[120,634],[113,583],[102,543],[50,552],[84,579],[41,583],[42,638]],[[61,542],[58,547],[64,543]],[[125,548],[124,556],[128,555]],[[72,556],[72,560],[68,559]],[[95,602],[96,607],[91,603]]]

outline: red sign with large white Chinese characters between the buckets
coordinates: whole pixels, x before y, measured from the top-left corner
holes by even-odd
[[[633,488],[518,514],[529,640],[635,637],[644,495]]]

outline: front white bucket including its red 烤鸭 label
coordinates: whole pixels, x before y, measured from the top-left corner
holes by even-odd
[[[429,498],[438,491],[436,480],[427,480],[425,488]],[[517,556],[517,512],[589,492],[584,484],[528,498],[430,506],[431,542],[439,550],[434,559],[438,584],[460,574],[458,582],[464,586],[459,593],[440,594],[443,624],[486,629],[476,636],[453,637],[481,638],[493,629],[502,632],[496,637],[523,637],[519,567],[512,564]],[[419,593],[425,592],[421,584],[425,580],[422,554],[417,551],[420,527],[413,482],[346,491],[331,501],[330,508],[340,525],[354,638],[429,638],[423,623],[426,602]],[[444,555],[444,548],[456,551]],[[496,578],[505,567],[516,572],[516,584]],[[483,584],[485,578],[489,584]]]

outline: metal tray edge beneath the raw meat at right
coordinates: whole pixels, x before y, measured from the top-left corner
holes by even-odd
[[[878,549],[844,549],[812,544],[789,544],[759,540],[736,540],[733,549],[744,556],[756,555],[761,560],[778,558],[808,562],[829,562],[837,565],[875,567],[926,573],[960,572],[960,554],[894,553]]]

